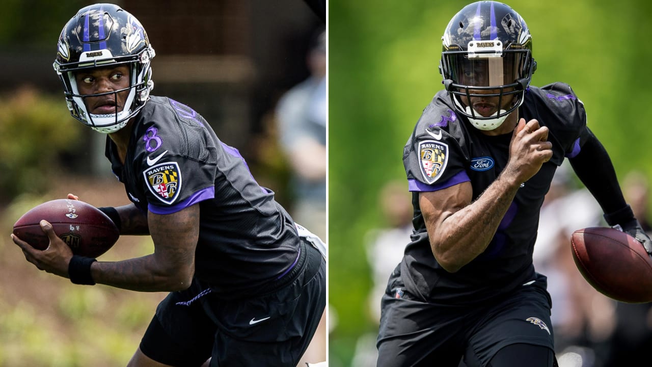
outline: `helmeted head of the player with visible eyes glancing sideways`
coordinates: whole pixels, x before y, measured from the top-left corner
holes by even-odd
[[[150,64],[156,53],[134,16],[110,5],[103,9],[113,10],[115,16],[98,16],[96,12],[92,13],[95,16],[82,18],[78,14],[75,22],[66,24],[59,37],[53,67],[63,84],[72,117],[95,131],[109,134],[125,127],[145,106],[154,88]],[[86,14],[91,14],[89,11]],[[110,80],[121,80],[121,88],[100,89],[95,93],[82,90],[92,81],[83,78],[84,72],[113,67],[121,72],[120,76],[110,76]]]

